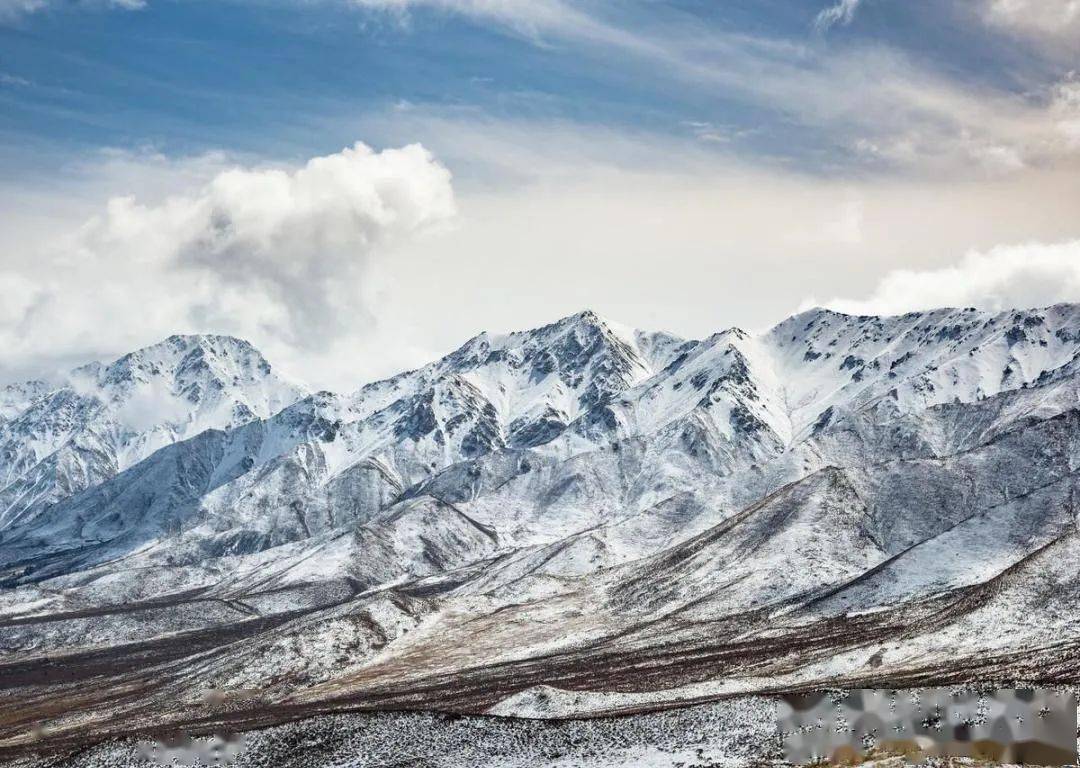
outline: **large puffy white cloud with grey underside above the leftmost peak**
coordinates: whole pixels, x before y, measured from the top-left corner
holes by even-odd
[[[356,144],[297,169],[220,170],[161,199],[116,197],[0,271],[0,346],[9,367],[184,332],[325,350],[370,326],[373,259],[454,214],[450,174],[419,145]]]

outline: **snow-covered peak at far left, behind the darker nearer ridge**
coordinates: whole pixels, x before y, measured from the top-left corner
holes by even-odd
[[[4,390],[0,530],[159,448],[266,418],[300,396],[246,341],[173,336],[109,365]]]

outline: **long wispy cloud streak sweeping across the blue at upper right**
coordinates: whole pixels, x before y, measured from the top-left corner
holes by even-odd
[[[640,17],[631,23],[629,15],[605,16],[596,5],[569,0],[352,1],[395,12],[435,9],[519,33],[608,48],[627,65],[649,67],[651,77],[721,93],[778,116],[771,124],[724,121],[723,131],[704,127],[719,121],[701,121],[694,132],[721,151],[732,145],[732,136],[760,136],[762,127],[793,125],[806,145],[846,147],[825,162],[878,170],[997,175],[1077,153],[1075,142],[1063,133],[1071,122],[1055,106],[1056,84],[1016,93],[962,81],[886,43],[813,45],[729,32],[656,9],[649,24]],[[837,0],[819,13],[816,26],[825,30],[848,24],[863,4]],[[811,157],[806,149],[792,151]]]

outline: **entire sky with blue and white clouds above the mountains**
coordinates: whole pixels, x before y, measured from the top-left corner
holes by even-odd
[[[1080,301],[1080,0],[0,0],[0,382]]]

